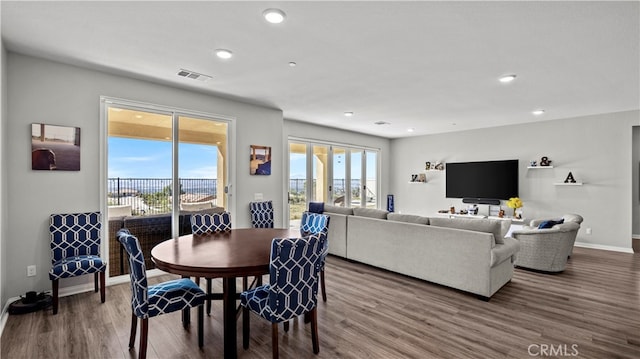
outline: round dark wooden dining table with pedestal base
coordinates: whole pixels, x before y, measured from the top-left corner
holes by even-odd
[[[269,273],[273,238],[299,237],[285,228],[235,228],[206,235],[184,235],[151,250],[156,268],[183,277],[222,278],[224,357],[237,357],[236,278]],[[214,299],[217,299],[214,297]],[[187,319],[188,320],[188,319]]]

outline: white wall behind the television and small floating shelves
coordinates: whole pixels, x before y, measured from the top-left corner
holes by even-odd
[[[630,250],[636,203],[631,200],[632,171],[637,171],[632,126],[638,124],[640,111],[629,111],[392,140],[390,188],[396,211],[429,216],[450,205],[466,207],[460,199],[445,198],[446,171],[427,172],[426,184],[408,183],[426,161],[518,159],[525,218],[578,213],[585,218],[578,242]],[[553,169],[527,170],[529,161],[542,156],[553,161]],[[553,185],[569,171],[585,185]],[[586,228],[593,234],[587,235]]]

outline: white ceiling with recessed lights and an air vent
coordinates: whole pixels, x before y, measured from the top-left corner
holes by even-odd
[[[9,51],[397,138],[640,108],[639,5],[2,1],[0,11]],[[286,21],[266,23],[270,7]],[[234,57],[217,59],[218,48]],[[515,82],[498,82],[510,73]]]

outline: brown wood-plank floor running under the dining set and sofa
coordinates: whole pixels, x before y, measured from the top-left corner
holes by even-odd
[[[516,269],[489,302],[336,257],[327,260],[326,285],[320,354],[299,319],[279,331],[281,358],[640,358],[640,254],[575,248],[563,273]],[[219,291],[220,280],[214,286]],[[104,304],[99,297],[61,298],[57,316],[10,316],[2,358],[134,358],[129,284],[108,287]],[[194,320],[186,331],[179,313],[151,318],[148,357],[222,358],[221,319],[215,301],[200,351]],[[270,324],[251,317],[245,351],[238,323],[238,357],[270,358]]]

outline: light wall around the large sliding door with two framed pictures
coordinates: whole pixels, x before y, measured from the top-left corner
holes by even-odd
[[[275,158],[283,156],[283,120],[280,110],[162,86],[150,82],[105,74],[9,52],[7,120],[3,120],[5,148],[11,149],[3,164],[3,181],[8,192],[3,221],[3,252],[6,251],[6,292],[3,299],[28,290],[49,290],[47,272],[51,265],[48,219],[51,213],[100,210],[100,96],[122,98],[190,109],[235,118],[236,163],[235,227],[250,226],[248,202],[254,192],[282,206],[283,163],[274,162],[270,176],[249,175],[249,146],[272,147]],[[4,81],[4,80],[3,80]],[[187,80],[185,80],[187,81]],[[32,171],[30,124],[77,126],[81,128],[81,170]],[[5,201],[6,199],[6,201]],[[232,201],[234,201],[232,199]],[[233,202],[232,202],[233,204]],[[276,224],[282,213],[276,212]],[[37,265],[37,276],[26,277],[26,266]],[[65,280],[63,287],[89,283],[90,276]]]

